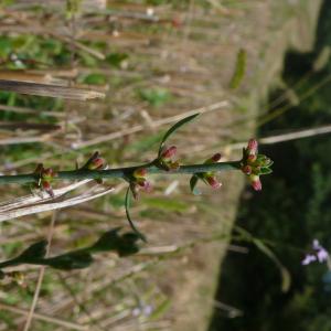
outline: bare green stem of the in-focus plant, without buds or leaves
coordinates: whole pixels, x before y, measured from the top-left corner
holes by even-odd
[[[85,179],[108,179],[108,178],[119,178],[127,179],[136,169],[145,168],[148,171],[148,174],[193,174],[193,173],[202,173],[202,172],[218,172],[218,171],[227,171],[227,170],[239,170],[241,161],[232,161],[232,162],[218,162],[212,164],[189,164],[181,166],[177,170],[167,171],[160,169],[151,163],[128,167],[128,168],[118,168],[118,169],[108,169],[108,170],[72,170],[72,171],[60,171],[57,172],[57,177],[54,180],[85,180]],[[0,185],[18,183],[18,184],[26,184],[26,183],[35,183],[39,180],[39,175],[36,173],[28,173],[28,174],[13,174],[13,175],[0,175]]]

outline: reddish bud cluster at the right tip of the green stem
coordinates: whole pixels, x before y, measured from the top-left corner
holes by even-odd
[[[259,177],[271,173],[273,161],[264,154],[258,154],[258,143],[255,139],[248,141],[244,148],[242,159],[242,171],[248,175],[250,184],[255,191],[261,190]]]

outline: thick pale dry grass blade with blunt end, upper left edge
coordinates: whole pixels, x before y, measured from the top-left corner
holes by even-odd
[[[104,93],[90,89],[6,79],[0,79],[0,90],[74,100],[105,97]]]

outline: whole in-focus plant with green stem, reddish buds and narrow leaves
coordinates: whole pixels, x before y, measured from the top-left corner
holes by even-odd
[[[98,183],[102,183],[105,179],[122,179],[128,183],[125,199],[127,218],[136,233],[145,239],[145,236],[138,232],[131,221],[129,205],[131,196],[137,200],[140,191],[151,191],[152,188],[148,180],[150,175],[160,173],[169,175],[191,174],[191,191],[194,194],[199,194],[196,185],[200,181],[213,189],[220,189],[222,186],[217,180],[217,173],[221,171],[239,170],[244,172],[253,189],[256,191],[261,190],[260,175],[271,172],[270,167],[273,166],[273,161],[266,156],[258,153],[258,143],[255,139],[250,139],[247,147],[243,149],[241,160],[222,162],[221,153],[215,153],[203,163],[181,164],[179,160],[174,159],[177,147],[167,147],[166,142],[180,127],[197,116],[199,114],[185,117],[173,125],[163,136],[157,158],[151,162],[127,168],[108,169],[106,161],[98,152],[95,152],[81,168],[76,167],[74,170],[55,172],[52,168],[45,169],[43,164],[39,164],[36,170],[32,173],[1,175],[0,184],[28,183],[39,190],[47,192],[50,196],[55,197],[52,185],[61,180],[94,179]]]

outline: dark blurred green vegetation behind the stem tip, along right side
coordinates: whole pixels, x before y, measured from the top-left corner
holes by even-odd
[[[287,54],[282,75],[287,87],[271,93],[270,105],[289,92],[300,99],[325,83],[264,125],[261,137],[331,122],[331,62],[316,70],[321,52],[331,45],[330,29],[331,3],[324,1],[313,52]],[[288,103],[286,97],[278,107]],[[327,249],[331,247],[331,138],[317,136],[277,143],[261,147],[261,152],[275,160],[274,175],[264,178],[261,194],[243,193],[237,224],[273,243],[273,250],[290,270],[291,288],[286,293],[280,291],[277,268],[254,246],[248,246],[248,254],[229,254],[222,266],[216,300],[239,309],[243,316],[229,318],[225,310],[216,309],[210,330],[329,331],[331,274],[325,265],[303,267],[301,259],[313,238]]]

